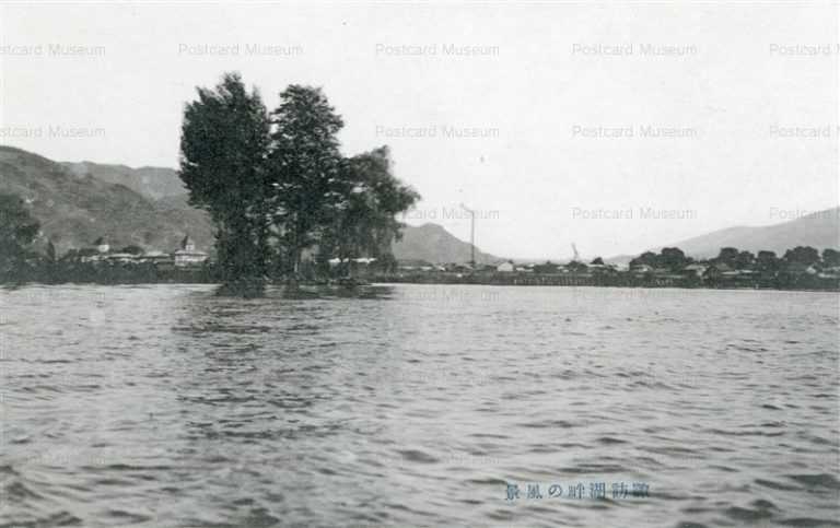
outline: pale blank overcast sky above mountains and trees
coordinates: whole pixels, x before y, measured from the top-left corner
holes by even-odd
[[[837,3],[0,7],[0,143],[177,167],[195,87],[323,86],[436,222],[510,257],[638,254],[838,204]],[[465,55],[466,54],[466,55]],[[657,133],[657,129],[663,129]],[[665,218],[656,218],[656,216]]]

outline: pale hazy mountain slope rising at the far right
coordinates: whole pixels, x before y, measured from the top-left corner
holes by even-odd
[[[796,246],[810,246],[822,251],[825,248],[840,248],[840,208],[826,209],[795,220],[758,227],[735,226],[713,231],[705,235],[666,244],[662,247],[678,247],[689,257],[716,257],[722,247],[736,247],[757,254],[760,250],[784,255]],[[662,247],[652,248],[658,253]],[[627,263],[637,255],[619,255],[606,259],[610,263]]]

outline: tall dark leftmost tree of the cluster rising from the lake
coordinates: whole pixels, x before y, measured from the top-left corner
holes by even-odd
[[[180,178],[192,206],[217,228],[217,254],[226,283],[259,283],[268,258],[269,120],[256,90],[236,73],[215,90],[198,89],[184,112]]]

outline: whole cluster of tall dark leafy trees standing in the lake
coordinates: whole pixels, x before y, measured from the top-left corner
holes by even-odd
[[[236,73],[198,89],[184,112],[180,177],[209,211],[228,283],[294,278],[318,259],[387,257],[395,220],[419,199],[392,174],[387,146],[339,150],[343,120],[320,89],[290,85],[269,112]]]

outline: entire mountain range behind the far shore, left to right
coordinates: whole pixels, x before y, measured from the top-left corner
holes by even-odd
[[[89,247],[106,236],[113,247],[137,244],[172,250],[189,234],[197,246],[211,249],[213,228],[208,214],[187,203],[177,171],[131,168],[93,162],[57,163],[12,146],[0,145],[0,192],[24,198],[42,223],[42,232],[59,253]],[[470,245],[438,224],[407,226],[395,242],[398,259],[467,262]],[[795,246],[840,247],[840,208],[761,227],[737,226],[667,244],[695,258],[710,258],[722,247],[783,255]],[[658,251],[661,248],[655,248]],[[606,261],[626,263],[635,257]],[[476,261],[503,260],[476,249]]]

